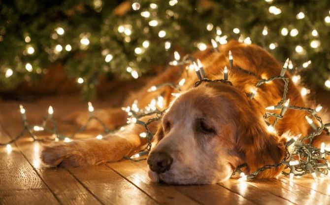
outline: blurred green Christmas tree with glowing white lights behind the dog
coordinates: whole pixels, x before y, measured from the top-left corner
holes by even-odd
[[[91,97],[101,76],[153,74],[176,50],[191,53],[211,39],[238,39],[263,46],[281,62],[290,58],[294,81],[301,74],[330,90],[329,36],[328,0],[5,0],[0,86],[35,82],[61,62]]]

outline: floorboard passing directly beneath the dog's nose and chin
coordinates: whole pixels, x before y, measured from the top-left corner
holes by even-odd
[[[139,187],[157,202],[165,205],[196,205],[196,201],[178,192],[173,186],[152,182],[148,173],[135,162],[126,160],[108,163],[108,167],[118,172],[135,186]]]

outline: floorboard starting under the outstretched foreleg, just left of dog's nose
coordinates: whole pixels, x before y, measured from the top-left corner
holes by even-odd
[[[68,171],[104,204],[158,204],[147,194],[105,165],[71,168]]]

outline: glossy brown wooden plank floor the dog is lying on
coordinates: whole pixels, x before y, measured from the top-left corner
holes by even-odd
[[[329,100],[329,97],[326,99]],[[108,106],[95,103],[95,107]],[[40,122],[48,105],[55,119],[75,109],[86,109],[74,96],[48,97],[24,102],[29,121]],[[22,129],[18,102],[0,100],[0,141],[9,140]],[[70,133],[72,125],[60,124]],[[41,134],[42,135],[42,134]],[[82,136],[83,137],[83,136]],[[47,169],[39,159],[42,143],[24,137],[8,152],[0,147],[0,205],[20,204],[330,204],[330,179],[288,177],[200,186],[170,186],[153,183],[145,161],[122,161],[98,167]]]

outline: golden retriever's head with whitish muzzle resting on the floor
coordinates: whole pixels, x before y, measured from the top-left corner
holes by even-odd
[[[178,97],[156,137],[149,175],[171,184],[225,181],[240,164],[252,172],[280,162],[285,152],[284,140],[266,131],[261,111],[225,83],[204,83]]]

